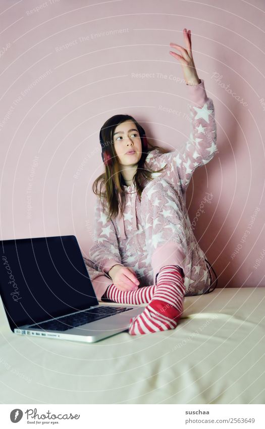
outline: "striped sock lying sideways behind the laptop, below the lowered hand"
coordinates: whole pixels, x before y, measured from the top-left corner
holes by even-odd
[[[115,284],[112,283],[108,286],[101,300],[109,299],[120,304],[148,304],[156,288],[157,285],[153,284],[152,286],[139,288],[136,291],[124,292],[120,291],[120,289],[116,288]]]

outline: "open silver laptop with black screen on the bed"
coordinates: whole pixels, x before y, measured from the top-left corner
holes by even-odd
[[[75,235],[0,240],[0,296],[19,335],[94,343],[140,306],[99,304]]]

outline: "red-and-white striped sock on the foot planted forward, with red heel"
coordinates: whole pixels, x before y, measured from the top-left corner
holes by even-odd
[[[157,275],[156,290],[144,311],[130,320],[130,335],[174,329],[183,313],[185,295],[183,270],[166,265]]]

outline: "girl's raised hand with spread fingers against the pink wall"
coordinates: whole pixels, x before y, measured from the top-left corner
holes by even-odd
[[[175,52],[170,51],[170,54],[175,57],[177,60],[179,60],[184,78],[186,80],[187,85],[198,85],[200,83],[200,79],[198,77],[193,57],[192,57],[192,51],[191,51],[191,31],[186,28],[183,30],[183,36],[184,36],[184,42],[186,45],[186,49],[184,47],[180,46],[176,43],[170,43],[170,46],[175,47],[178,49],[182,55],[176,54]]]

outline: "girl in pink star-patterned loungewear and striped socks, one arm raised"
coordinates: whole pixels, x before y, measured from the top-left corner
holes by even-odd
[[[216,122],[213,101],[194,66],[191,32],[183,33],[186,49],[170,43],[181,53],[170,52],[181,63],[192,100],[192,132],[183,154],[148,149],[144,129],[129,115],[113,116],[99,134],[105,171],[93,184],[99,198],[89,274],[99,300],[148,304],[130,320],[131,335],[175,328],[184,296],[206,293],[211,285],[185,193],[195,168],[217,152]]]

